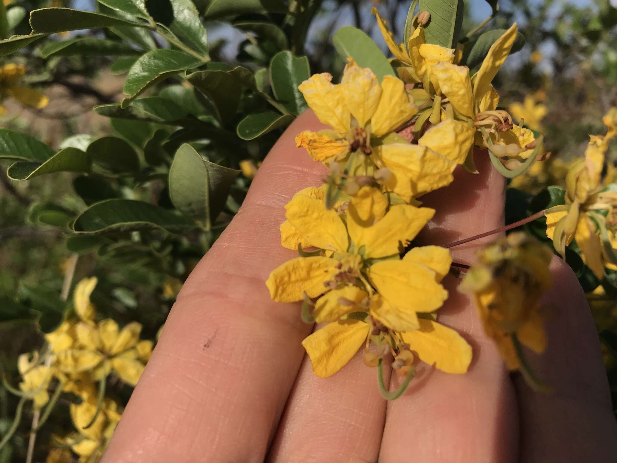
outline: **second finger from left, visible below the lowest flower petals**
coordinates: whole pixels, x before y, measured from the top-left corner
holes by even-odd
[[[377,461],[386,403],[375,369],[363,364],[363,353],[360,349],[329,378],[317,377],[305,357],[268,462],[304,462],[307,455],[315,462]]]

